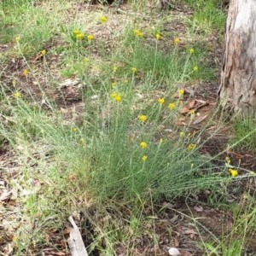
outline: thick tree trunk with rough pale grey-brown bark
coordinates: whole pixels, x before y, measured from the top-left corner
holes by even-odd
[[[230,0],[218,93],[225,109],[256,108],[256,0]]]

